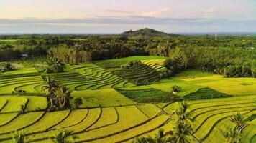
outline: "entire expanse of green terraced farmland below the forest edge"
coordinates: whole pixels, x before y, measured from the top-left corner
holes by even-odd
[[[120,68],[132,61],[130,68]],[[222,75],[186,70],[160,79],[165,69],[161,56],[66,65],[63,73],[40,73],[23,68],[0,73],[0,142],[11,142],[22,132],[30,142],[52,142],[60,130],[73,131],[74,142],[132,142],[174,129],[173,97],[184,99],[194,120],[193,135],[200,142],[225,142],[221,134],[234,126],[229,120],[240,112],[256,114],[256,79],[224,78]],[[45,77],[72,91],[76,109],[48,112]],[[172,86],[180,86],[173,95]],[[241,142],[255,142],[255,119],[242,129]]]

